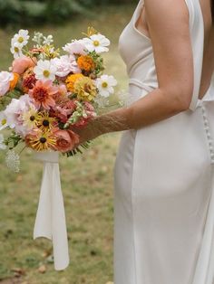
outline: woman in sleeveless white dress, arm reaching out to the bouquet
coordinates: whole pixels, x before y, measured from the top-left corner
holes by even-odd
[[[120,37],[131,104],[115,164],[115,284],[214,283],[214,1],[140,0]],[[211,8],[212,7],[212,8]]]

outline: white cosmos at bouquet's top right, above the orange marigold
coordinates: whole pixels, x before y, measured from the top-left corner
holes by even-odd
[[[89,38],[85,37],[83,38],[82,42],[89,52],[95,51],[97,53],[102,53],[109,51],[107,46],[110,45],[110,40],[100,33],[93,34]]]

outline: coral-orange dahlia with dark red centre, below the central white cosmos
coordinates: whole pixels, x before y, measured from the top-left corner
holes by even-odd
[[[37,80],[34,89],[29,90],[29,95],[34,99],[34,105],[38,108],[50,109],[54,107],[53,95],[58,88],[53,87],[52,80]]]

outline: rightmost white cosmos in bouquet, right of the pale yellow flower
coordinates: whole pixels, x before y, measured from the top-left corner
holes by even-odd
[[[104,98],[109,97],[114,92],[113,87],[117,85],[117,80],[114,77],[108,75],[102,75],[96,81],[96,86],[100,92],[100,95]]]

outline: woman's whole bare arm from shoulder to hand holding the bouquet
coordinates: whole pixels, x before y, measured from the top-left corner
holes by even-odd
[[[188,7],[184,0],[144,2],[159,88],[129,108],[94,118],[87,128],[78,131],[82,141],[108,132],[142,128],[190,106],[193,56]]]

